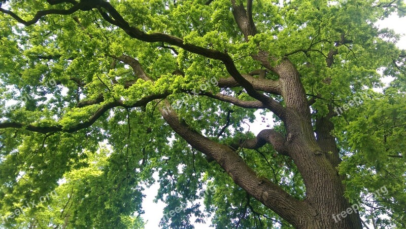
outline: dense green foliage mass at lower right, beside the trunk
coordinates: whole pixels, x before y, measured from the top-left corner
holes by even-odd
[[[361,200],[375,190],[385,186],[387,195],[374,197],[379,201],[365,202],[373,211],[364,213],[366,218],[389,215],[404,222],[405,170],[404,154],[406,143],[406,98],[404,93],[389,87],[384,95],[376,94],[365,104],[348,113],[343,132],[339,134],[346,149],[344,162],[340,165],[343,174],[349,174],[346,181],[348,198]],[[339,122],[337,120],[337,122]],[[369,193],[369,194],[368,194]],[[379,207],[379,208],[378,208]],[[369,221],[369,220],[368,220]],[[386,219],[378,220],[381,225],[396,224]],[[402,225],[397,223],[397,225]]]

